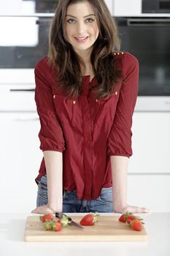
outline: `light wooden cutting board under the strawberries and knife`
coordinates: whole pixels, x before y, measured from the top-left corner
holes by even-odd
[[[71,216],[72,217],[72,216]],[[73,216],[79,223],[82,216]],[[30,216],[26,220],[24,241],[146,241],[145,228],[142,231],[133,230],[127,223],[119,222],[119,216],[99,216],[94,226],[63,227],[61,231],[43,230],[39,216]]]

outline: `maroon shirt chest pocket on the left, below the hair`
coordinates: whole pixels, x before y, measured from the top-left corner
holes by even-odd
[[[54,94],[55,110],[61,123],[77,126],[80,123],[81,112],[79,99]]]

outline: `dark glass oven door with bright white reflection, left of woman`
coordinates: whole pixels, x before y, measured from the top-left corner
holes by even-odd
[[[0,69],[33,69],[48,51],[50,17],[0,17]]]

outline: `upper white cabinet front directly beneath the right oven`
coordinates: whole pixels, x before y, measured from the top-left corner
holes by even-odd
[[[135,112],[129,173],[170,174],[170,113]]]

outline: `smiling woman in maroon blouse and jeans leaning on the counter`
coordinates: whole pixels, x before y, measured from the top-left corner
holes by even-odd
[[[35,67],[44,158],[33,213],[147,212],[126,200],[139,64],[103,0],[61,0]]]

